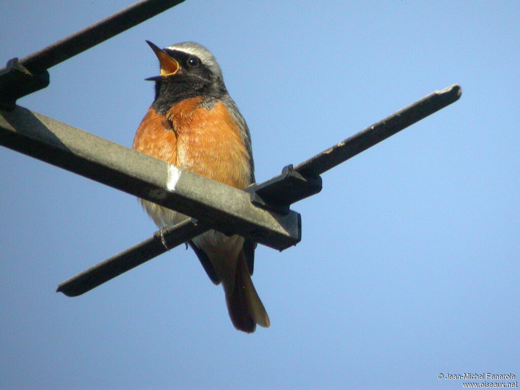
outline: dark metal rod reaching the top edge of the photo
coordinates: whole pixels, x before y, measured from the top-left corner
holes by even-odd
[[[142,0],[22,58],[20,63],[29,70],[49,69],[182,2],[184,0]]]

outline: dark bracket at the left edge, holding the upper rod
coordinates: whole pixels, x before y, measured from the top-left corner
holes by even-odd
[[[12,58],[0,70],[0,108],[12,111],[16,101],[49,85],[49,72],[29,71],[19,61]]]

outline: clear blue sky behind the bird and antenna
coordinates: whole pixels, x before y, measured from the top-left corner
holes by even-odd
[[[2,62],[131,1],[3,0]],[[520,2],[187,0],[50,69],[19,104],[130,147],[145,43],[196,41],[249,124],[256,178],[453,83],[461,99],[323,175],[303,240],[259,246],[269,329],[172,250],[80,297],[61,281],[156,230],[133,196],[0,147],[0,388],[459,389],[520,376]]]

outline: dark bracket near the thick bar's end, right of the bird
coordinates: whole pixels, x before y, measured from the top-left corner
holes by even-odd
[[[244,191],[250,193],[254,205],[287,215],[291,204],[321,191],[321,177],[304,176],[290,164],[280,175],[262,184],[254,183]]]

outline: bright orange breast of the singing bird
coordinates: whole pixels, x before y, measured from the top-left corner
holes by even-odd
[[[243,189],[250,184],[251,167],[237,124],[222,103],[207,110],[200,107],[201,100],[180,101],[165,116],[150,108],[133,148]]]

